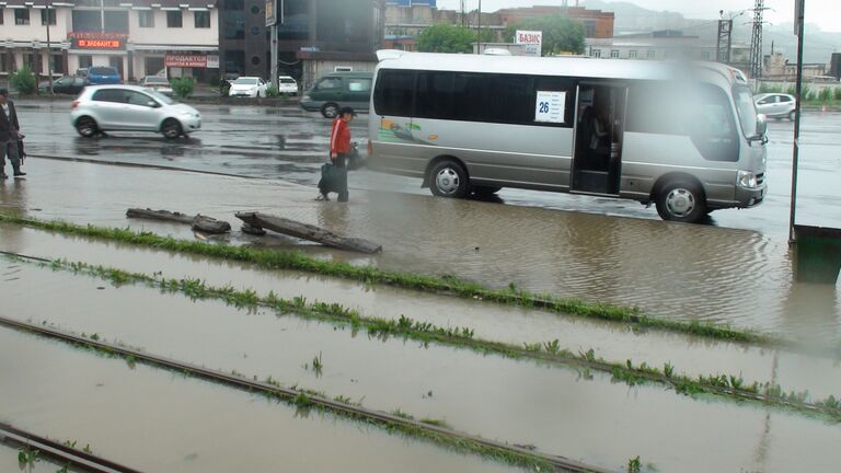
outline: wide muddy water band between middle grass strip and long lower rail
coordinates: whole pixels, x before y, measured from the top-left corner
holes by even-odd
[[[822,471],[841,460],[831,447],[841,442],[837,425],[756,405],[693,400],[659,387],[612,383],[596,372],[369,339],[293,316],[247,315],[215,301],[36,273],[23,268],[18,284],[8,282],[2,313],[207,367],[272,376],[368,407],[446,419],[462,430],[602,466],[619,468],[637,454],[660,471],[687,472],[787,472],[804,463]],[[311,369],[315,356],[324,365],[320,374]],[[145,399],[157,403],[161,396]]]

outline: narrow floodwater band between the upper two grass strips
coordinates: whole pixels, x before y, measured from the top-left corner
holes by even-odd
[[[164,278],[198,277],[210,286],[230,285],[242,290],[255,290],[261,296],[272,291],[286,299],[304,297],[309,301],[339,303],[368,316],[399,319],[405,315],[437,326],[466,326],[480,338],[517,346],[558,339],[561,347],[573,353],[594,349],[597,357],[613,362],[622,364],[631,359],[636,365],[645,361],[654,367],[669,362],[676,372],[692,378],[726,373],[741,376],[749,382],[773,380],[785,391],[808,390],[816,399],[841,395],[841,361],[832,358],[661,331],[635,332],[621,324],[560,316],[540,310],[384,286],[370,287],[293,272],[264,270],[235,262],[68,238],[5,224],[0,224],[0,240],[27,255],[159,274]],[[22,268],[27,265],[15,266],[15,269],[4,272],[8,273],[7,282],[18,280]],[[20,284],[26,287],[26,281]],[[10,284],[8,287],[14,286]]]

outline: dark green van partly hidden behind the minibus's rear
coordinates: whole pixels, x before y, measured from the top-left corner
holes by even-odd
[[[335,118],[342,107],[367,112],[371,101],[373,72],[333,72],[315,82],[301,97],[301,107]]]

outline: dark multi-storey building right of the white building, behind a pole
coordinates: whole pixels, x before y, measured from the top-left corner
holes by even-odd
[[[270,33],[265,0],[222,0],[220,51],[226,71],[268,77]],[[303,86],[336,68],[367,70],[382,47],[384,0],[285,0],[278,25],[279,69]]]

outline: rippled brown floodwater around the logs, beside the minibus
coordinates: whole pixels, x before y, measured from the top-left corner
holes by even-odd
[[[283,182],[45,160],[27,165],[37,178],[0,184],[1,211],[194,238],[186,226],[127,220],[125,211],[166,208],[237,223],[234,212],[260,210],[384,249],[359,256],[295,246],[318,256],[454,274],[495,287],[515,282],[805,343],[841,341],[837,286],[794,282],[785,239],[759,232],[401,194],[366,193],[350,205],[324,204],[312,200],[311,189]],[[256,239],[235,231],[221,240]],[[293,245],[286,238],[264,241],[257,244]]]

